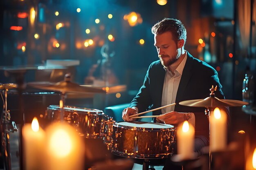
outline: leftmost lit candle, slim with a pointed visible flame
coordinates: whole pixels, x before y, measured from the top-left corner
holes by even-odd
[[[24,158],[26,170],[43,170],[45,132],[34,117],[32,124],[22,127]]]

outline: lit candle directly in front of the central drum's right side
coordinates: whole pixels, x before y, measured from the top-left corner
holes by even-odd
[[[194,156],[195,128],[184,121],[178,127],[177,132],[177,153],[180,159],[191,159]]]

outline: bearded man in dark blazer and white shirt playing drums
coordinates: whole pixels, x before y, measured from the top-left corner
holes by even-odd
[[[195,126],[195,151],[200,154],[200,149],[209,144],[209,121],[204,114],[205,108],[181,106],[179,102],[209,97],[212,85],[218,86],[216,97],[223,99],[218,73],[184,50],[186,29],[180,20],[165,18],[151,30],[160,60],[150,64],[144,84],[130,107],[124,109],[122,118],[133,121],[135,119],[130,115],[175,102],[175,106],[154,111],[153,115],[161,115],[154,122],[178,125],[188,119]]]

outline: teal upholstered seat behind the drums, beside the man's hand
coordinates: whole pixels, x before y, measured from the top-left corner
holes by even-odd
[[[108,106],[104,109],[104,113],[110,117],[113,117],[115,121],[124,121],[122,119],[122,112],[125,108],[129,106],[130,106],[130,103]],[[152,115],[152,112],[145,113],[144,115],[141,115],[141,116],[147,116],[147,115]],[[140,118],[137,121],[151,122],[152,118]]]

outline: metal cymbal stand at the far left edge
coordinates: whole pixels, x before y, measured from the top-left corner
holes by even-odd
[[[9,141],[9,133],[17,131],[17,127],[14,121],[11,121],[10,110],[7,110],[7,91],[4,91],[5,101],[4,101],[4,110],[1,115],[1,144],[3,147],[3,155],[4,155],[4,165],[5,170],[11,170],[11,155],[10,155],[10,141]]]

